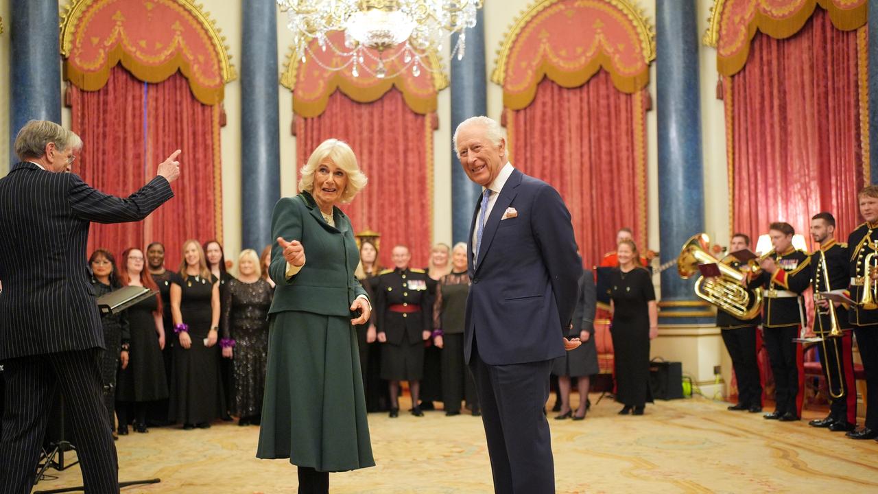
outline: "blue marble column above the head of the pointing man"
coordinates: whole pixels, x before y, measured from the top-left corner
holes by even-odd
[[[28,120],[61,123],[58,0],[12,0],[6,19],[11,41],[9,131],[12,144]]]

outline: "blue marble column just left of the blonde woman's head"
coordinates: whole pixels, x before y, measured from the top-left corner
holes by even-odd
[[[280,199],[277,2],[251,0],[241,42],[241,249],[262,251]]]

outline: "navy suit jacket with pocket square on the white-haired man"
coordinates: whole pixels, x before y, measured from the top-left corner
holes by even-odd
[[[518,215],[501,220],[507,207],[515,207]],[[466,361],[473,338],[488,365],[564,355],[561,338],[568,332],[582,274],[564,200],[551,185],[513,171],[488,216],[473,265],[472,232],[478,218],[476,204],[467,242],[471,286],[464,326]]]

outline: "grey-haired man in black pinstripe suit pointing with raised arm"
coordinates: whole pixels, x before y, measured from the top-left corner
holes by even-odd
[[[176,150],[127,199],[70,171],[76,134],[31,120],[18,132],[21,163],[0,178],[0,362],[5,410],[0,493],[31,491],[54,391],[61,386],[86,492],[119,492],[118,461],[102,395],[104,333],[89,282],[90,222],[137,222],[174,196]]]

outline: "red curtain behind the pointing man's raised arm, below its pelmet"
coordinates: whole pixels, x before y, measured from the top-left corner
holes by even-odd
[[[183,149],[175,197],[145,221],[92,225],[89,251],[119,255],[128,247],[165,244],[166,265],[176,269],[184,240],[220,237],[219,105],[202,105],[179,73],[145,84],[116,66],[99,91],[71,85],[72,130],[83,138],[74,171],[86,183],[126,197],[155,177],[174,149]]]

